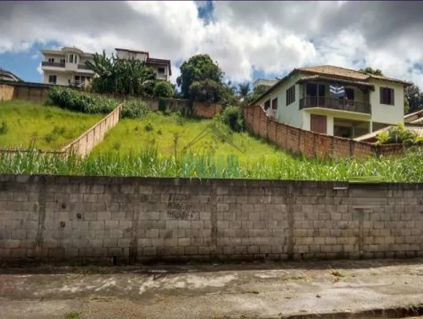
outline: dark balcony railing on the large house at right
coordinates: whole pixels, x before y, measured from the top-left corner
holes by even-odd
[[[310,108],[310,107],[324,107],[339,109],[343,111],[358,112],[371,114],[372,108],[370,103],[358,102],[353,100],[344,100],[344,99],[331,99],[326,97],[316,97],[309,96],[300,99],[300,109]]]

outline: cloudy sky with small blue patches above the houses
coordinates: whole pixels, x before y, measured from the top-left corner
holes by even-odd
[[[233,82],[373,66],[423,87],[423,1],[1,1],[0,67],[40,82],[41,48],[208,53]]]

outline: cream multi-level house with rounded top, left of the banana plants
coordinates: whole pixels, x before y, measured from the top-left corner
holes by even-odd
[[[43,83],[81,86],[91,81],[94,72],[85,62],[92,61],[92,53],[83,52],[74,46],[41,52],[44,55],[44,61],[41,63],[44,72]]]

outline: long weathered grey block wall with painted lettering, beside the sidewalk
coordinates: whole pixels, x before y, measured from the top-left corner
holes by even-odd
[[[422,256],[423,184],[0,175],[0,260]]]

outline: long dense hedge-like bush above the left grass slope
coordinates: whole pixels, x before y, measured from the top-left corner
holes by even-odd
[[[67,108],[82,113],[110,113],[117,101],[68,87],[55,86],[48,90],[47,104]]]

